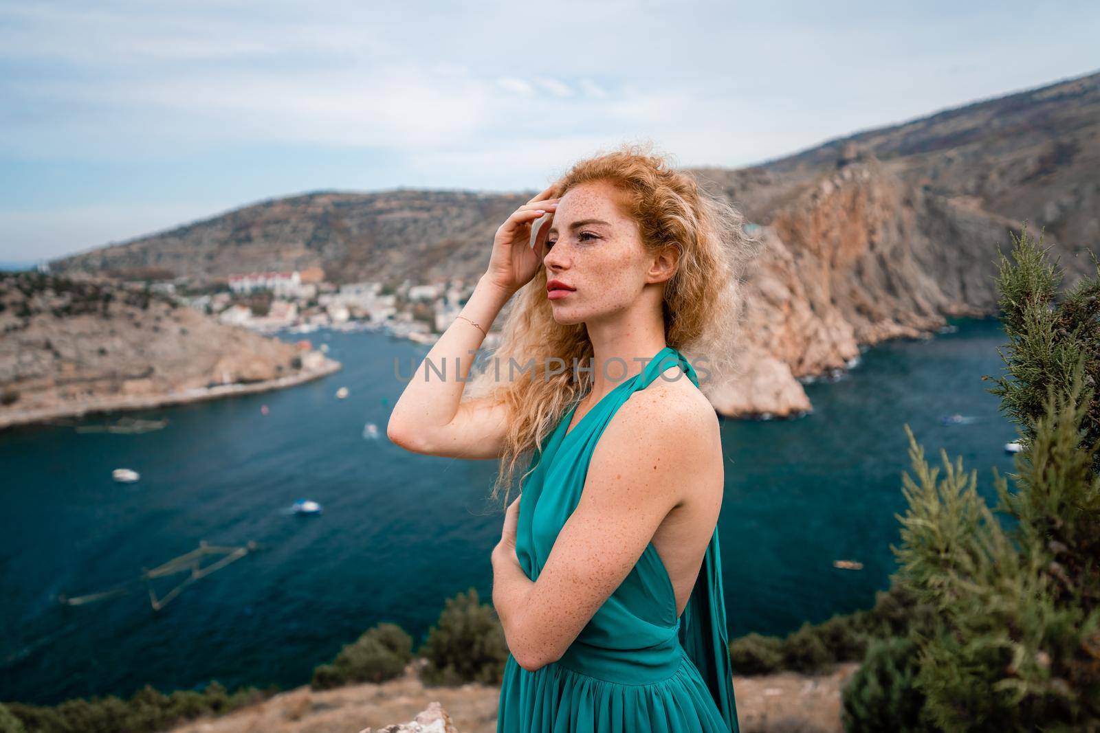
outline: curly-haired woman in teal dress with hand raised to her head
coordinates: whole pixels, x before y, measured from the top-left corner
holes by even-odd
[[[499,458],[494,497],[531,453],[492,554],[509,649],[498,732],[738,730],[722,442],[680,349],[728,369],[741,223],[636,146],[575,164],[497,230],[394,408],[388,434],[407,449]],[[516,296],[463,399],[461,357]]]

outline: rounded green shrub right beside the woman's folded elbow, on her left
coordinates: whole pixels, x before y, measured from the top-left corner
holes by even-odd
[[[504,679],[508,646],[496,611],[479,603],[477,590],[471,587],[447,599],[418,654],[428,660],[420,673],[426,685],[494,685]]]

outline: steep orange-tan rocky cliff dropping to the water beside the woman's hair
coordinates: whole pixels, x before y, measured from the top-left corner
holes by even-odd
[[[998,249],[1010,251],[1019,222],[906,185],[873,157],[785,192],[758,214],[740,375],[708,392],[723,414],[810,411],[800,378],[845,369],[860,345],[996,312]]]

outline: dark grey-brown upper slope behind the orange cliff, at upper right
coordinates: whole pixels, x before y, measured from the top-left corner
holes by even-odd
[[[766,163],[814,176],[873,155],[906,184],[1045,226],[1070,248],[1100,240],[1100,74],[945,110]]]

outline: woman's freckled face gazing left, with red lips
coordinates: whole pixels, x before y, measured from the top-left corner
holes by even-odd
[[[581,323],[635,303],[652,265],[638,225],[617,203],[622,193],[607,181],[565,191],[547,237],[547,280],[576,288],[550,298],[558,323]],[[596,221],[593,221],[596,220]]]

